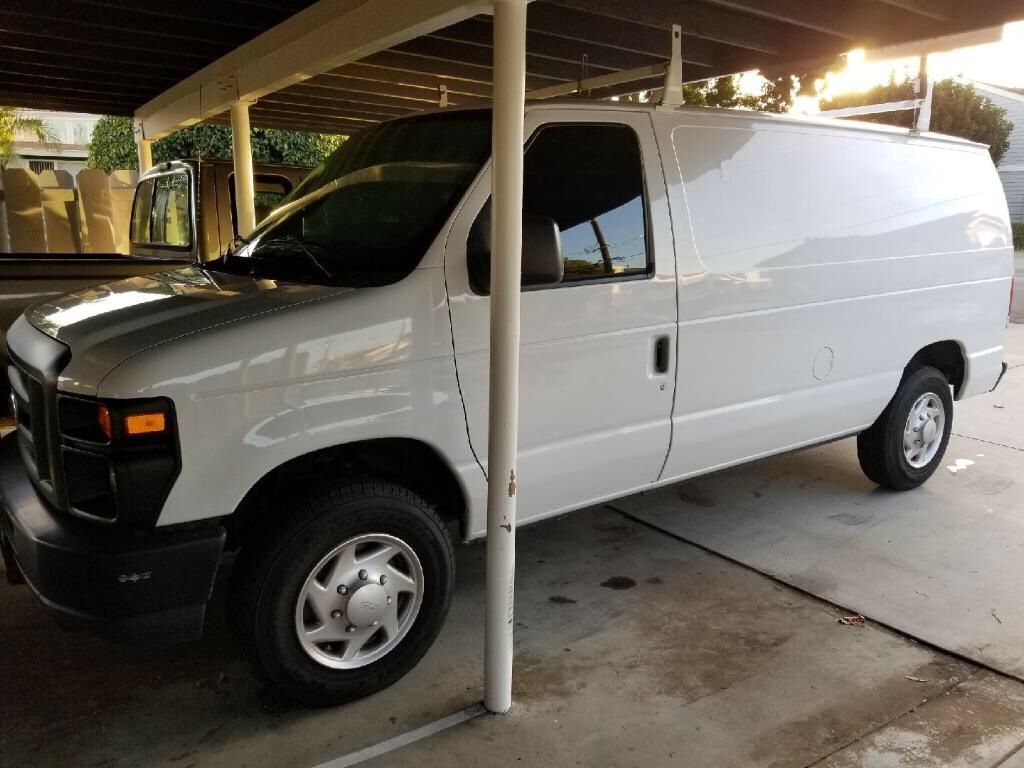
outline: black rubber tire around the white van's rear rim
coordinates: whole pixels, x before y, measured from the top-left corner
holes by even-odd
[[[922,467],[914,467],[903,451],[903,431],[910,410],[918,399],[927,393],[936,395],[942,402],[942,438],[938,451]],[[903,376],[896,394],[874,424],[857,435],[857,458],[860,468],[867,478],[892,490],[910,490],[921,485],[934,474],[942,463],[949,443],[949,433],[953,423],[953,398],[949,392],[949,382],[938,370],[931,366],[908,371]]]

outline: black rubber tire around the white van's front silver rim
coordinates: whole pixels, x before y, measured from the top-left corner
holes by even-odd
[[[382,658],[358,669],[332,669],[299,642],[296,604],[316,563],[367,534],[393,536],[413,549],[423,568],[422,603],[407,634]],[[444,623],[454,584],[455,548],[437,514],[400,485],[360,479],[311,495],[276,527],[243,546],[232,577],[231,620],[244,654],[272,690],[306,706],[332,707],[386,688],[419,663]]]

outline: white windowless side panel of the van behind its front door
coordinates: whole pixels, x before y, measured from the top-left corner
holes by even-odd
[[[921,348],[962,396],[1002,359],[1013,254],[982,147],[856,127],[653,115],[679,265],[664,478],[859,431]]]

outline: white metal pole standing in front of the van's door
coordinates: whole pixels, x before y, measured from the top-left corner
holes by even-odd
[[[490,408],[483,705],[489,712],[505,713],[512,707],[526,0],[494,0],[494,4]]]

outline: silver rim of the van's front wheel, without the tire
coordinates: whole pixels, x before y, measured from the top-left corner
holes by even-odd
[[[299,591],[299,644],[332,669],[373,664],[413,626],[423,588],[420,558],[403,541],[386,534],[349,539],[316,563]]]

